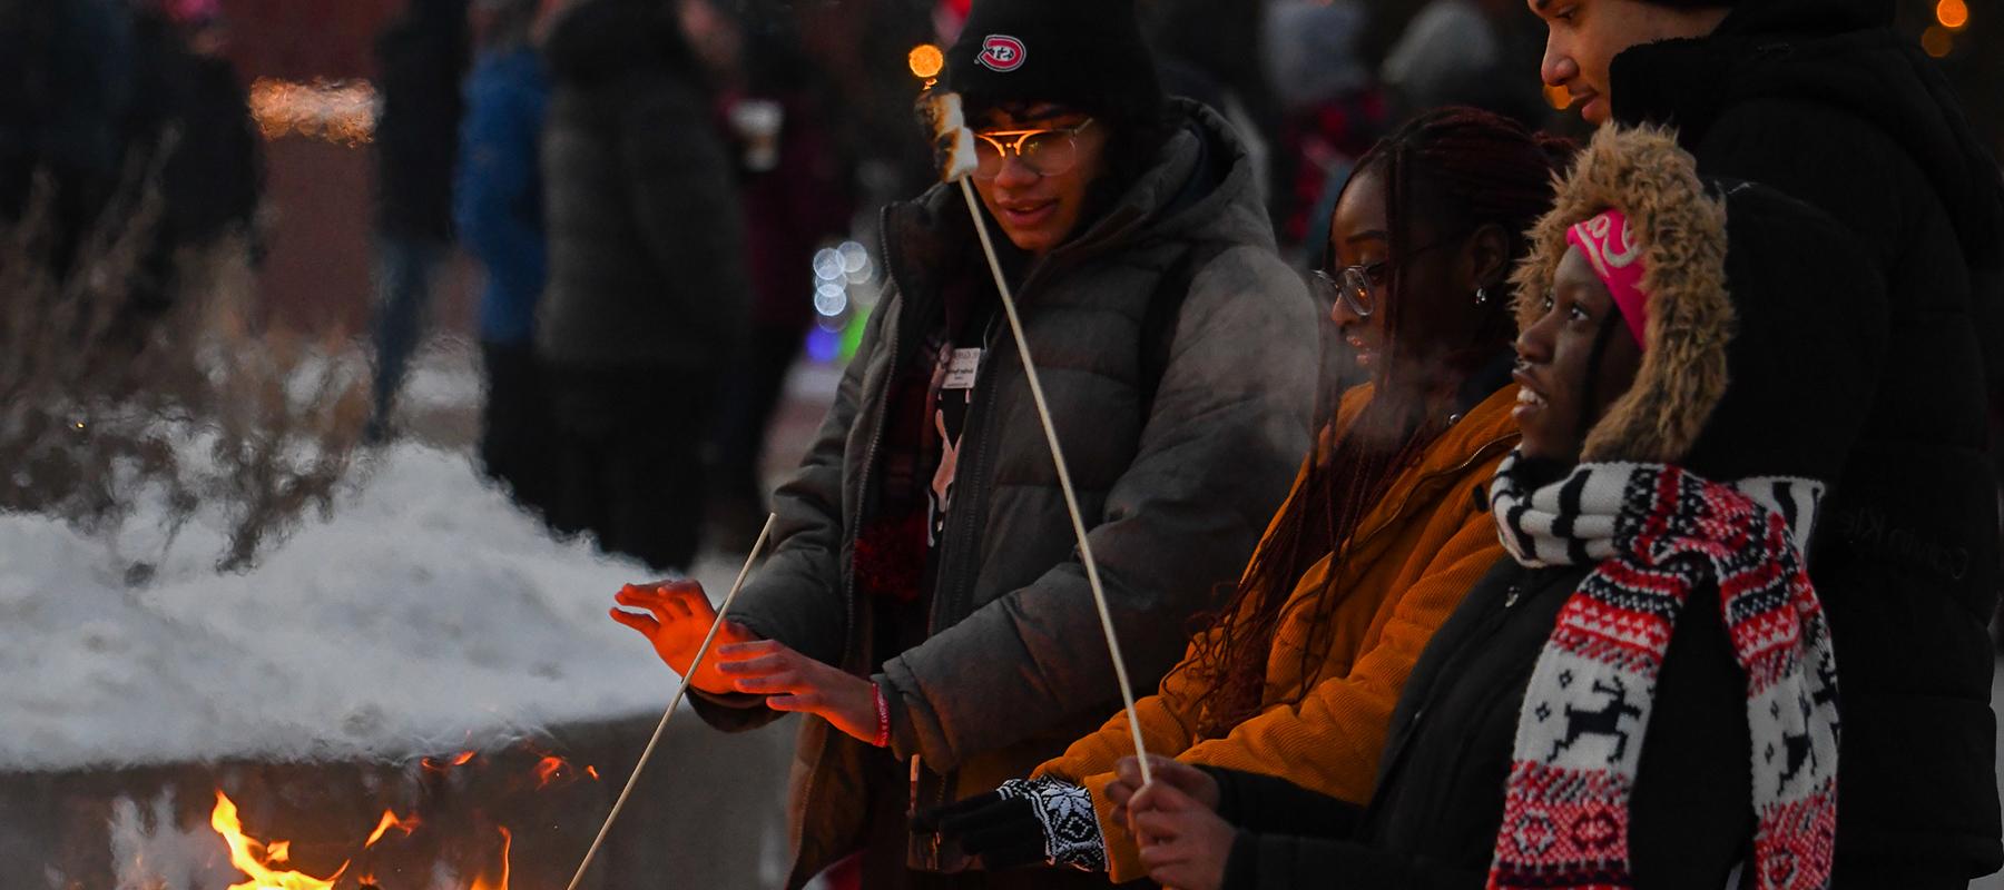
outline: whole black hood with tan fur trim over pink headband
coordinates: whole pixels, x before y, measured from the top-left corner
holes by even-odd
[[[1605,208],[1643,243],[1647,349],[1581,459],[1832,481],[1886,349],[1884,289],[1854,237],[1774,188],[1699,178],[1671,130],[1603,126],[1531,229],[1511,279],[1519,327],[1551,291],[1565,229]]]

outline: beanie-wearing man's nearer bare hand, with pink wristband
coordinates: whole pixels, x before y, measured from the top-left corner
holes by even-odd
[[[717,647],[717,672],[729,692],[766,696],[776,712],[814,714],[850,736],[876,744],[876,684],[802,655],[772,639]]]

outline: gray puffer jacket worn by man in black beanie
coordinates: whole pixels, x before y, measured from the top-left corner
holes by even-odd
[[[1309,449],[1317,389],[1315,309],[1275,255],[1246,152],[1210,110],[1176,108],[1186,126],[1154,166],[1016,287],[1136,694],[1154,688],[1182,653],[1190,617],[1244,567]],[[940,299],[940,273],[966,269],[958,259],[972,237],[958,186],[886,210],[892,281],[814,447],[776,493],[778,545],[733,607],[756,633],[876,676],[892,702],[892,752],[926,766],[920,808],[1024,776],[1118,710],[1006,325],[968,407],[930,639],[868,663],[874,603],[856,593],[852,563],[886,397],[924,335],[926,301]],[[978,261],[972,269],[988,275]],[[1148,305],[1174,299],[1160,291],[1180,281],[1188,293],[1166,361],[1150,369],[1162,353],[1144,343]],[[721,728],[778,716],[717,698],[697,710]],[[788,886],[862,844],[866,754],[824,720],[804,722]],[[956,868],[930,846],[916,846],[912,864]]]

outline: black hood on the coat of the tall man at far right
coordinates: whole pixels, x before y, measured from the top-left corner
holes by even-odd
[[[1932,62],[1888,26],[1888,0],[1749,0],[1703,38],[1613,58],[1613,114],[1685,144],[1731,106],[1804,100],[1880,128],[1928,174],[1976,269],[2004,269],[2004,176]]]

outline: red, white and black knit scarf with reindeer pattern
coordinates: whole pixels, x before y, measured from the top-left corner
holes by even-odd
[[[1822,485],[1719,485],[1677,467],[1583,463],[1531,487],[1521,455],[1491,507],[1523,565],[1585,565],[1517,718],[1489,888],[1625,888],[1629,790],[1679,609],[1717,589],[1747,678],[1760,888],[1828,888],[1838,798],[1836,659],[1804,571]],[[1705,603],[1699,603],[1705,605]],[[1595,732],[1593,720],[1611,726]]]

